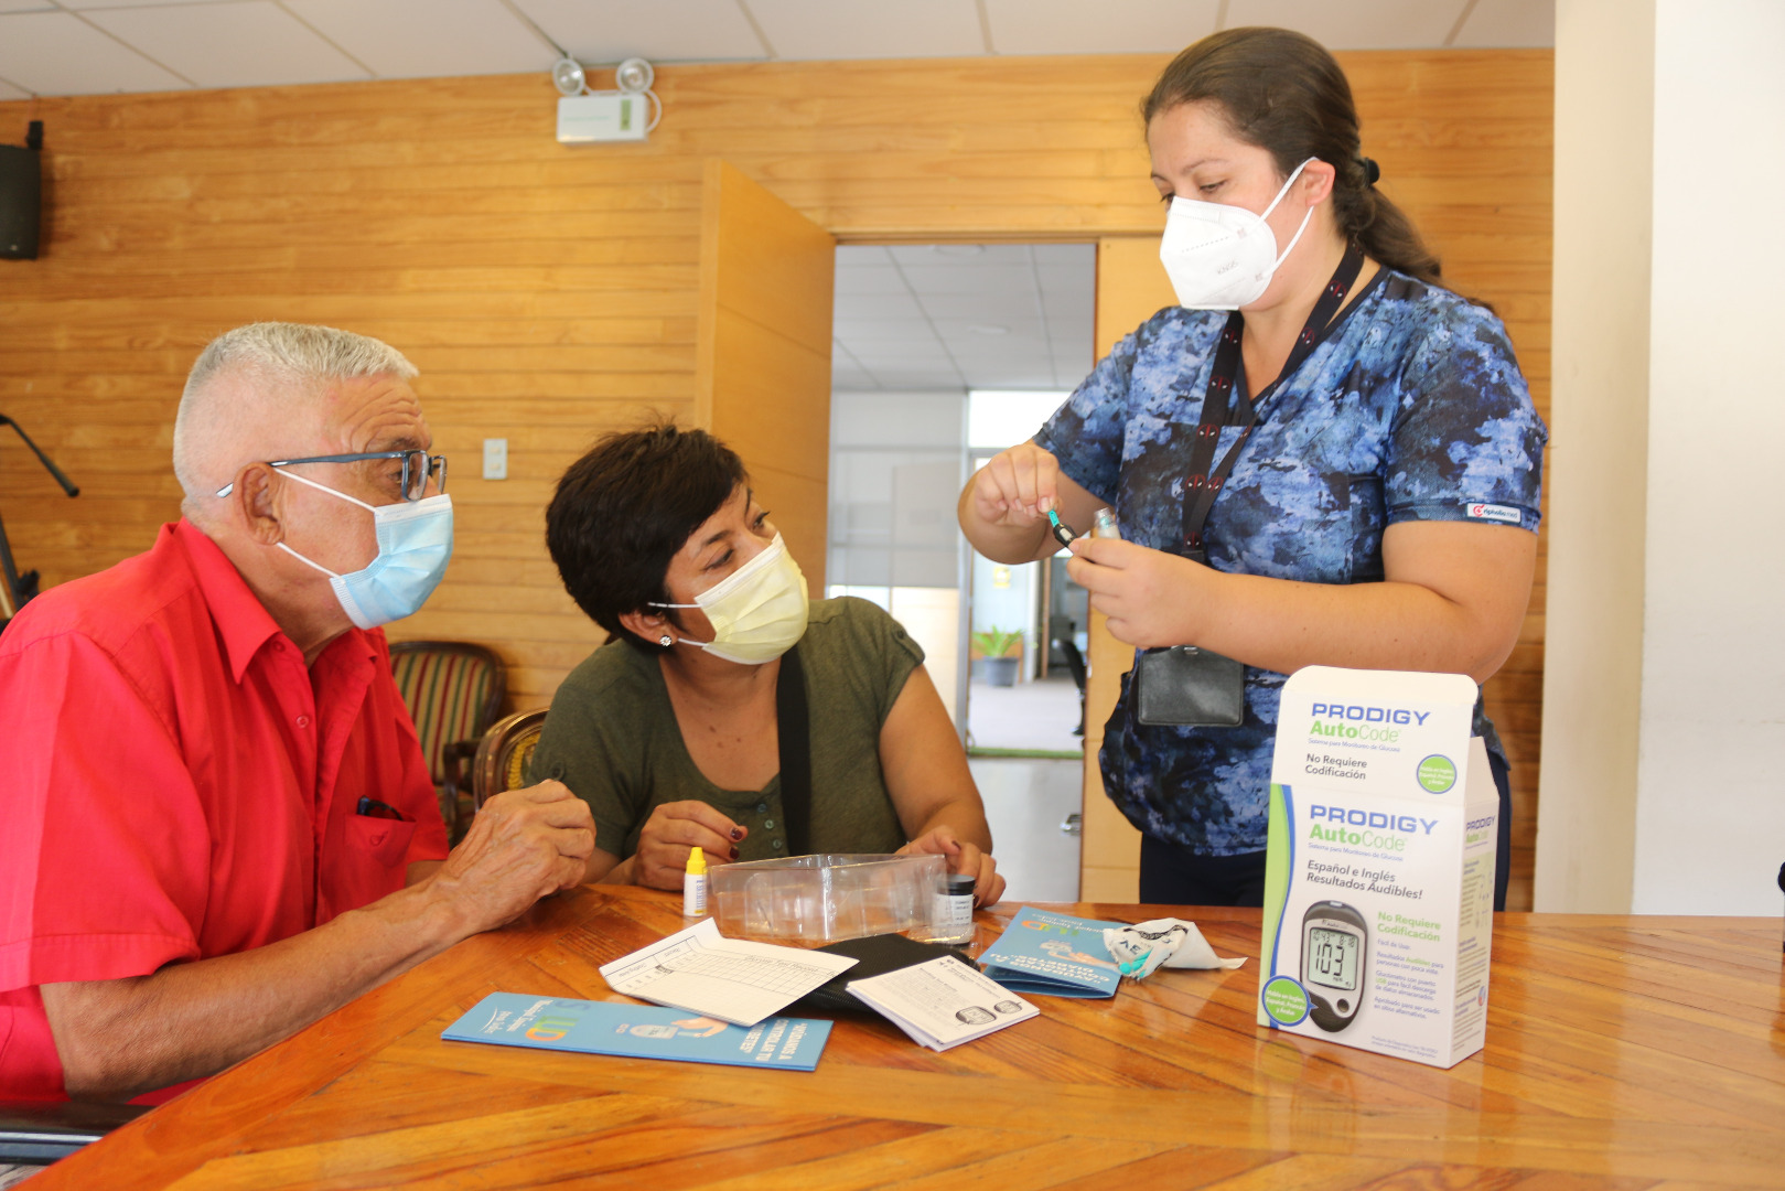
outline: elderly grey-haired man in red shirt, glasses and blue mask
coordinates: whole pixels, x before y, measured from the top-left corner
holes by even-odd
[[[582,880],[544,782],[450,855],[378,625],[452,555],[377,339],[255,323],[193,366],[182,520],[0,636],[0,1089],[161,1102]]]

